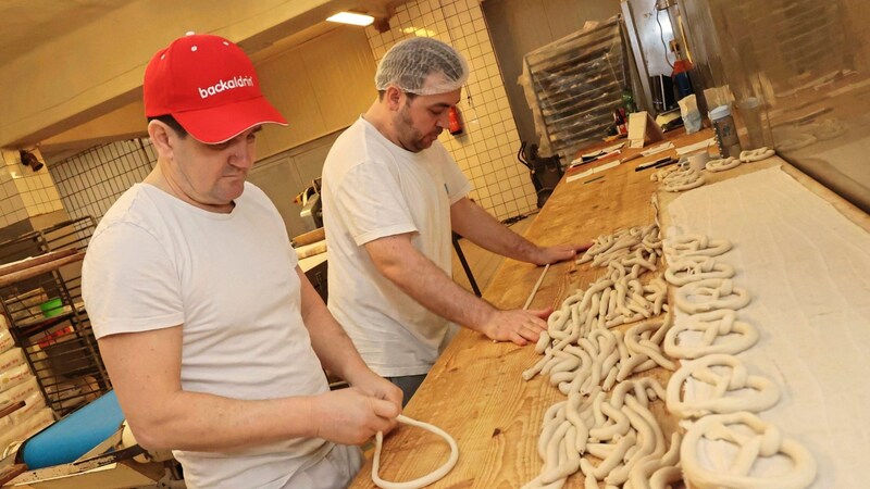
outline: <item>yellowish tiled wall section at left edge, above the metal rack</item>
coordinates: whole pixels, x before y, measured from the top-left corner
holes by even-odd
[[[41,160],[38,150],[34,153]],[[51,175],[21,164],[17,151],[3,150],[0,159],[0,227],[63,209]]]

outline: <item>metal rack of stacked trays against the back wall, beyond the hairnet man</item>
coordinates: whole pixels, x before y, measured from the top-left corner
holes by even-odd
[[[535,122],[549,153],[571,161],[613,126],[613,110],[631,85],[621,17],[566,36],[523,59],[537,112]]]

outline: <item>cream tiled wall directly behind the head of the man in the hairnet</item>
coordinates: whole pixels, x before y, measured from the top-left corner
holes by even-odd
[[[478,0],[417,0],[401,4],[390,29],[366,27],[375,61],[396,42],[414,36],[443,40],[469,61],[471,76],[459,109],[464,134],[444,131],[440,141],[471,180],[474,198],[499,220],[535,209],[529,171],[517,160],[519,134],[513,123],[493,45]]]

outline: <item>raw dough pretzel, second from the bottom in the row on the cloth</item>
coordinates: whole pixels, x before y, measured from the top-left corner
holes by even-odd
[[[717,373],[722,372],[722,367],[728,367],[730,372]],[[684,384],[689,378],[712,388],[707,399],[681,400]],[[753,392],[744,396],[732,393],[742,389],[751,389]],[[773,381],[760,375],[749,375],[743,362],[733,355],[714,354],[684,362],[668,381],[668,411],[680,418],[738,411],[758,413],[770,409],[779,400],[780,389]]]

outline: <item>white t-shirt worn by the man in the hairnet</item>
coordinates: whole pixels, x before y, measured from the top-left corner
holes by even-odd
[[[427,373],[456,325],[381,275],[364,244],[413,233],[413,247],[451,275],[450,205],[470,190],[440,142],[412,153],[362,117],[326,156],[321,197],[330,311],[382,376]]]

